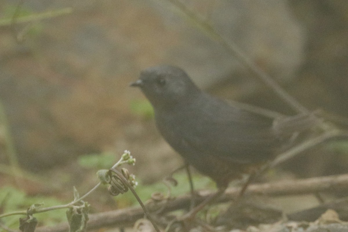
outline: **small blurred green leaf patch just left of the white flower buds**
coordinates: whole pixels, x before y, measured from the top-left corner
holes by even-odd
[[[79,165],[85,168],[109,169],[116,162],[116,155],[112,152],[87,154],[79,157]]]

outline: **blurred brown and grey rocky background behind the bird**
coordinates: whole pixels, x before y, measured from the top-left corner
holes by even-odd
[[[347,116],[346,0],[180,2],[308,109]],[[60,16],[11,23],[14,15],[62,9]],[[10,22],[0,24],[0,187],[65,200],[73,185],[89,190],[95,170],[111,167],[124,150],[136,158],[130,169],[143,185],[179,167],[182,160],[157,132],[150,105],[128,87],[152,65],[180,66],[221,98],[294,114],[170,1],[0,0],[0,19]],[[285,168],[298,177],[342,173],[347,158],[347,144],[325,146]],[[15,178],[14,166],[33,178]],[[197,182],[214,186],[205,178]],[[127,205],[98,200],[104,204],[96,210]]]

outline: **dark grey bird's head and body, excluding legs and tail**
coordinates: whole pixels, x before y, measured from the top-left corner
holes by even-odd
[[[280,146],[272,118],[204,93],[178,67],[150,67],[131,86],[149,99],[165,140],[219,189],[274,158]]]

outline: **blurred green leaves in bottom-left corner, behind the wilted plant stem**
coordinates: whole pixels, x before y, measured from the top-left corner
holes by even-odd
[[[22,191],[11,186],[3,186],[0,188],[0,202],[3,205],[3,213],[23,210],[31,205],[38,203],[44,204],[45,207],[61,205],[62,202],[53,197],[29,197]],[[44,223],[48,226],[53,226],[58,222],[65,221],[65,209],[47,211],[44,213],[35,214],[40,224]],[[18,215],[1,218],[2,222],[9,227],[18,228]]]

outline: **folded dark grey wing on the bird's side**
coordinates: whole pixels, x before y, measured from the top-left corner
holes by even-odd
[[[267,117],[218,100],[208,102],[198,114],[188,117],[195,117],[195,123],[185,125],[182,137],[195,151],[238,163],[256,163],[272,157],[276,136],[271,129],[272,120]]]

